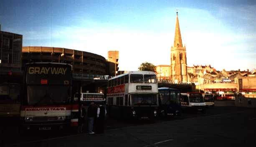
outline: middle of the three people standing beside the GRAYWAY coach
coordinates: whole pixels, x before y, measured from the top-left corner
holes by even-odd
[[[91,102],[90,106],[87,109],[89,134],[94,134],[93,126],[94,126],[94,117],[96,117],[96,115],[97,115],[97,106],[94,104],[94,102]]]

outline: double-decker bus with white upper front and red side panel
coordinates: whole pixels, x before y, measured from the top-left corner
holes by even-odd
[[[131,71],[109,79],[106,105],[109,116],[155,120],[158,110],[155,72]]]

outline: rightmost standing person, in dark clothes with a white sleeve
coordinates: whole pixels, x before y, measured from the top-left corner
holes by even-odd
[[[96,128],[96,133],[101,134],[104,133],[104,120],[106,116],[106,109],[103,105],[99,104],[98,105],[98,110],[97,110],[97,128]]]

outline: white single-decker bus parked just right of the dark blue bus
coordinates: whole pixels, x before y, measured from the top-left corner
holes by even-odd
[[[181,93],[180,105],[184,110],[195,110],[198,112],[205,112],[205,102],[202,93],[188,92]]]

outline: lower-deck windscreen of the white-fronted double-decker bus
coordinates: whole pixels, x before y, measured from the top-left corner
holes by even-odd
[[[157,95],[131,95],[131,105],[157,105]]]

